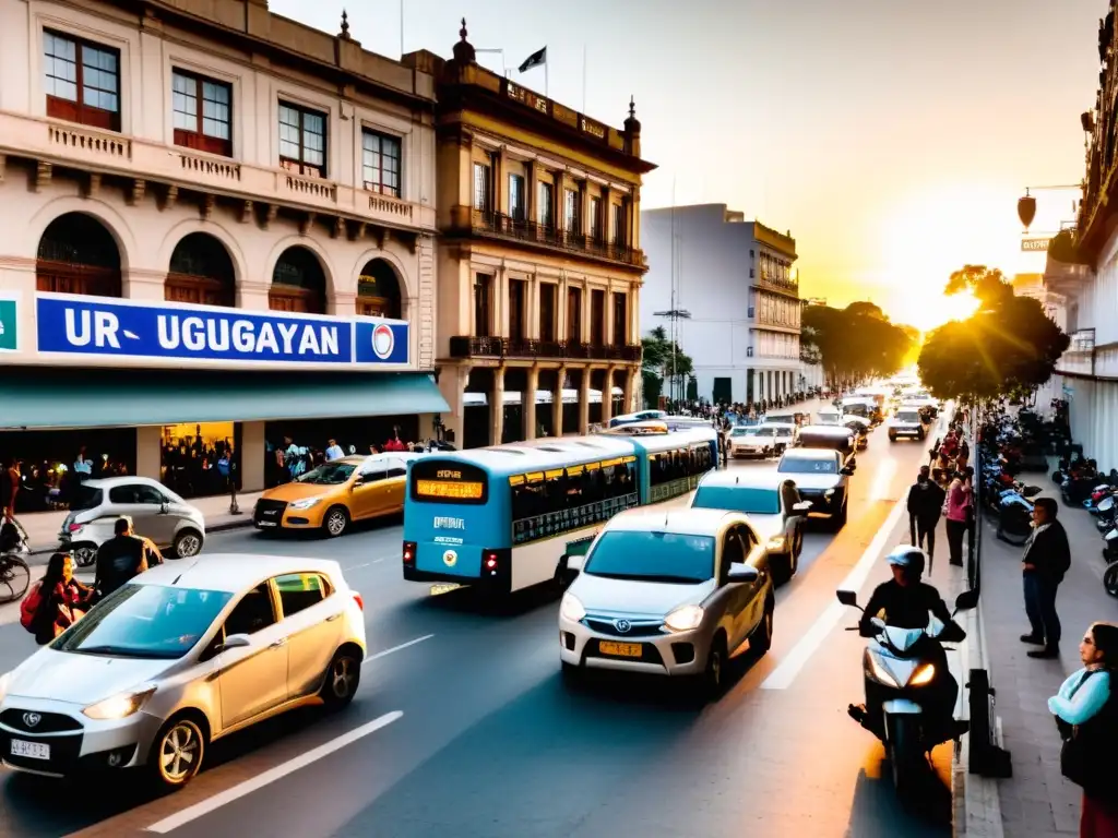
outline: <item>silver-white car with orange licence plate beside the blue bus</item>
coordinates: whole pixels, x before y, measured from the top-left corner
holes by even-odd
[[[713,697],[730,656],[773,642],[776,600],[765,542],[726,510],[629,510],[609,520],[559,606],[563,676],[617,669],[697,676]]]

